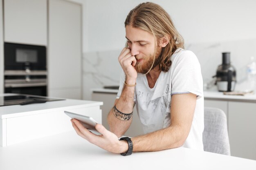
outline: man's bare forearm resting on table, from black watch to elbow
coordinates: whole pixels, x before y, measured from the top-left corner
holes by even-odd
[[[186,135],[179,127],[168,127],[132,138],[133,152],[159,151],[177,148],[184,144]]]

